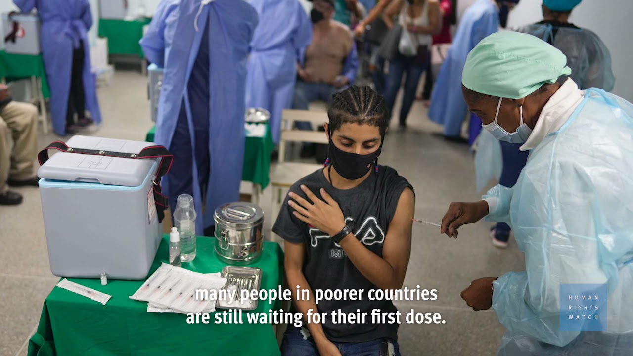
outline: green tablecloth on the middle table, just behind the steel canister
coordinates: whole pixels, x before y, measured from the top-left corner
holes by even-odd
[[[145,141],[154,142],[156,126],[152,127]],[[259,184],[263,190],[270,183],[270,154],[275,149],[273,135],[270,126],[266,124],[264,137],[246,137],[246,150],[244,151],[244,167],[242,181]]]

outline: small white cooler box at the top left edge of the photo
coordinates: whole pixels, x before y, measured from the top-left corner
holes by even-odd
[[[6,13],[2,16],[4,50],[6,53],[42,53],[40,45],[40,22],[35,14]]]

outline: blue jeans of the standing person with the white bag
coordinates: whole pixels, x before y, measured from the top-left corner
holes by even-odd
[[[403,74],[406,74],[406,79],[404,79],[404,92],[400,107],[401,125],[406,122],[406,117],[408,117],[413,101],[415,101],[420,77],[422,77],[426,67],[427,64],[419,63],[416,57],[405,57],[400,53],[396,54],[396,58],[389,62],[389,73],[387,73],[387,84],[385,86],[385,103],[389,110],[390,119],[396,103],[396,96],[398,96],[398,91],[400,90]]]

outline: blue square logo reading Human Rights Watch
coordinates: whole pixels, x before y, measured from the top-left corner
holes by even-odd
[[[606,331],[606,284],[561,284],[561,331]]]

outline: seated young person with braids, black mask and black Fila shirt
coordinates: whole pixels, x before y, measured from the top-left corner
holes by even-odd
[[[393,168],[378,165],[389,124],[384,98],[368,86],[352,86],[334,94],[327,115],[329,164],[291,187],[273,226],[285,240],[289,286],[310,291],[308,300],[293,300],[294,312],[304,320],[310,310],[394,313],[391,300],[315,303],[315,289],[364,289],[369,294],[402,288],[415,210],[411,185]],[[304,329],[289,326],[281,353],[400,355],[397,337],[397,323],[347,324],[329,316]]]

